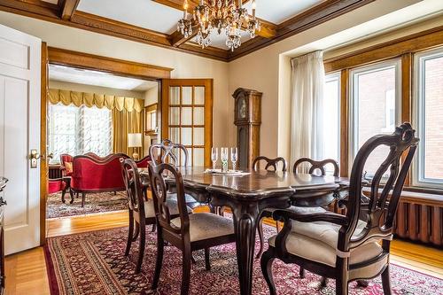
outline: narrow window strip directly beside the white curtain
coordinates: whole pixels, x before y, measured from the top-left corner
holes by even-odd
[[[323,159],[339,159],[340,74],[327,74],[323,90]],[[329,172],[333,167],[327,167]]]

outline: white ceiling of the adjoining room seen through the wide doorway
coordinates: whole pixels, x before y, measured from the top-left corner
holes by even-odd
[[[157,82],[120,77],[113,74],[83,70],[68,66],[50,65],[49,76],[51,81],[70,82],[133,91],[146,91],[158,86]]]

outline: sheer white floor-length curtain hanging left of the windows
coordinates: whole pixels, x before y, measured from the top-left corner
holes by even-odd
[[[323,51],[291,60],[291,163],[323,159]]]

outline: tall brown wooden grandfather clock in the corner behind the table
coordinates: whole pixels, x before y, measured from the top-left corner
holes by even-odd
[[[238,167],[249,168],[260,154],[261,96],[252,89],[237,89],[234,124],[237,126]]]

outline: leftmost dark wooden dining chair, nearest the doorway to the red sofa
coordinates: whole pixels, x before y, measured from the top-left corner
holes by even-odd
[[[126,245],[125,256],[129,255],[131,245],[140,236],[138,246],[138,259],[136,262],[136,273],[142,268],[144,259],[144,245],[146,239],[146,225],[156,224],[154,203],[148,199],[145,190],[142,187],[140,175],[133,159],[120,158],[121,174],[125,183],[128,197],[129,229],[128,242]],[[171,216],[178,216],[177,203],[167,200]]]

